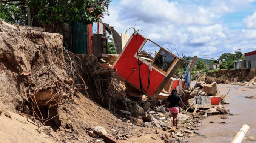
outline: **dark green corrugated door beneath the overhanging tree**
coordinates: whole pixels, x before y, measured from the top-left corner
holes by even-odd
[[[73,53],[87,54],[86,53],[86,26],[77,21],[72,22],[72,46]]]

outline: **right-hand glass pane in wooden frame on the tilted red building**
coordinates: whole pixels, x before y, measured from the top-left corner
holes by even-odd
[[[157,66],[158,68],[162,69],[163,71],[167,72],[168,68],[173,63],[175,57],[168,53],[166,50],[161,49],[159,55],[157,56],[156,60],[154,61],[153,65]]]

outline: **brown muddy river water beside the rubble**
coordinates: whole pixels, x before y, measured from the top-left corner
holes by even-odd
[[[250,126],[247,139],[243,143],[256,142],[256,86],[241,86],[238,84],[218,84],[221,94],[226,95],[225,105],[231,114],[227,119],[221,116],[209,116],[200,122],[202,125],[196,131],[206,137],[187,138],[189,143],[230,143],[243,124]],[[214,123],[210,123],[214,122]],[[220,123],[225,122],[225,124]]]

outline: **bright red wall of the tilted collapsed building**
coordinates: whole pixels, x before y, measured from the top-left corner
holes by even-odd
[[[113,69],[117,69],[117,74],[120,77],[122,77],[124,80],[129,81],[131,84],[138,87],[139,89],[140,83],[138,59],[134,57],[134,55],[137,53],[137,49],[140,48],[144,40],[145,38],[143,38],[139,34],[133,35],[131,41],[129,42],[125,50],[121,53],[120,58],[118,59],[116,65],[114,65],[113,67]],[[136,68],[136,71],[133,72],[133,68]],[[144,89],[146,89],[148,85],[148,72],[148,65],[142,63],[142,65],[140,65],[140,73]],[[162,83],[164,78],[165,76],[163,74],[152,68],[150,75],[150,87],[147,93],[151,96],[154,96],[154,92],[156,91],[160,83]]]

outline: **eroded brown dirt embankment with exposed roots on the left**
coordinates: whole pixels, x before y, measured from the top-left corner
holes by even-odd
[[[114,115],[116,110],[112,109],[120,104],[123,110],[132,113],[134,110],[134,102],[121,103],[116,98],[123,90],[114,73],[104,74],[106,69],[100,67],[93,56],[69,54],[63,54],[62,36],[59,34],[0,22],[0,140],[6,143],[104,142],[86,134],[89,128],[95,126],[105,127],[109,134],[125,133],[129,141],[120,140],[121,143],[154,142],[151,137],[161,140],[151,128],[134,126]],[[74,84],[85,82],[88,87],[82,93],[72,92],[72,102],[62,92],[62,89],[71,88],[69,83],[62,82],[66,81],[67,76],[74,77],[71,74],[76,74],[76,78],[72,79]],[[49,81],[54,82],[48,84]],[[56,90],[58,87],[60,90]],[[63,94],[59,95],[58,92]],[[51,98],[53,93],[67,100],[52,107],[51,104],[42,104],[45,103],[45,97]],[[42,102],[37,100],[40,105],[35,105],[34,97],[42,99]],[[133,116],[141,118],[136,113]],[[40,120],[45,124],[42,125]]]

